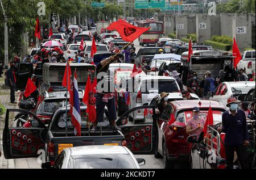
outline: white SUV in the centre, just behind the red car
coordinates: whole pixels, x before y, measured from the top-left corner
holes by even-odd
[[[133,79],[127,79],[126,83],[121,84],[121,89],[129,92],[129,109],[149,104],[152,99],[163,92],[180,93],[180,87],[173,77],[167,76],[138,76]],[[141,111],[134,112],[134,119],[143,119],[144,114]],[[131,120],[131,119],[130,119]]]

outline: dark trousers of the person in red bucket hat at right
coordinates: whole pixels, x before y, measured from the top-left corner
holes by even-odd
[[[237,152],[238,161],[241,164],[242,169],[247,169],[246,152],[244,145],[225,145],[226,150],[226,169],[234,168],[234,151]]]

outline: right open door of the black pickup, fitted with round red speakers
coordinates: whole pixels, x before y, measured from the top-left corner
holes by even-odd
[[[144,119],[129,122],[130,114],[135,111],[142,112]],[[133,154],[154,154],[158,140],[155,106],[135,107],[123,114],[117,120],[117,125],[122,129],[127,148]]]

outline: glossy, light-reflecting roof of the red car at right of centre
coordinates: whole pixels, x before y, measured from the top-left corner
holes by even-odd
[[[199,106],[199,103],[201,102],[201,106]],[[223,110],[226,110],[225,106],[218,102],[218,101],[210,101],[210,100],[183,100],[183,101],[175,101],[171,102],[177,110],[181,109],[191,109],[195,106],[200,108],[209,108],[211,106],[212,108],[221,108]]]

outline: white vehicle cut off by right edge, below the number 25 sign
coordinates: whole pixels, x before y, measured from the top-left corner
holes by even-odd
[[[246,74],[255,73],[255,50],[242,53],[242,60],[237,64],[237,69],[244,69]]]

